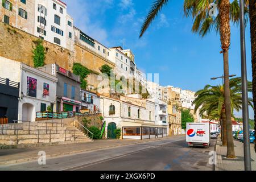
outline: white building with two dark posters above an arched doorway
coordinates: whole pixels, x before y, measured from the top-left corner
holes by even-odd
[[[8,72],[6,72],[8,68]],[[20,82],[18,120],[35,121],[36,112],[56,103],[57,78],[18,61],[0,57],[0,77]]]

